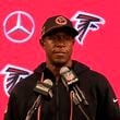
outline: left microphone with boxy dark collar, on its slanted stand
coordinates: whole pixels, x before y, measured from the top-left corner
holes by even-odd
[[[33,106],[31,107],[31,109],[27,112],[27,116],[25,118],[25,120],[31,120],[34,111],[38,108],[38,106],[41,104],[41,97],[48,97],[48,98],[52,98],[52,82],[49,79],[46,79],[43,83],[40,81],[37,82],[34,91],[36,93],[38,93],[38,97],[36,98],[36,100],[34,101]]]

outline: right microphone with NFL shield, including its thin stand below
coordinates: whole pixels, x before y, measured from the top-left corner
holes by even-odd
[[[61,80],[64,86],[67,87],[67,91],[71,91],[73,94],[73,101],[79,107],[81,112],[84,115],[86,120],[91,120],[87,113],[84,111],[84,109],[81,106],[81,103],[83,101],[84,105],[88,105],[83,92],[80,89],[80,87],[75,84],[79,81],[79,77],[76,74],[70,70],[67,67],[62,67],[60,69]]]

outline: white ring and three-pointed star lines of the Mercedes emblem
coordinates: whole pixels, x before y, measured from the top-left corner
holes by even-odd
[[[15,15],[15,14],[17,15],[16,25],[14,27],[12,27],[10,31],[7,31],[7,27],[5,26],[7,26],[7,23],[8,23],[9,19],[11,16]],[[28,31],[27,28],[25,28],[24,26],[22,26],[22,16],[21,15],[25,15],[25,16],[27,16],[29,19],[29,21],[31,21],[31,23],[33,25],[33,27],[31,28],[31,31]],[[20,31],[28,34],[28,36],[26,38],[21,39],[21,40],[17,40],[17,39],[12,38],[9,34],[11,34],[11,33],[13,33],[13,32],[15,32],[17,29],[20,29]],[[11,40],[13,43],[19,43],[19,44],[20,43],[25,43],[25,41],[27,41],[33,36],[33,34],[35,32],[35,22],[34,22],[32,15],[29,15],[28,13],[26,13],[24,11],[14,11],[14,12],[10,13],[5,17],[5,20],[3,21],[3,32],[4,32],[5,37],[9,40]]]

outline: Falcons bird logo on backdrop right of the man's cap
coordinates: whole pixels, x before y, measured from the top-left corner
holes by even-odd
[[[88,31],[97,31],[99,29],[98,24],[105,24],[105,20],[103,17],[85,12],[76,12],[71,21],[76,22],[75,28],[79,31],[76,40],[81,45],[83,45],[84,38],[87,35]]]

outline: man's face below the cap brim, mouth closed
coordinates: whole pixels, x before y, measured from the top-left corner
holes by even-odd
[[[71,60],[74,38],[64,32],[55,32],[44,39],[47,62],[53,65],[63,65]]]

